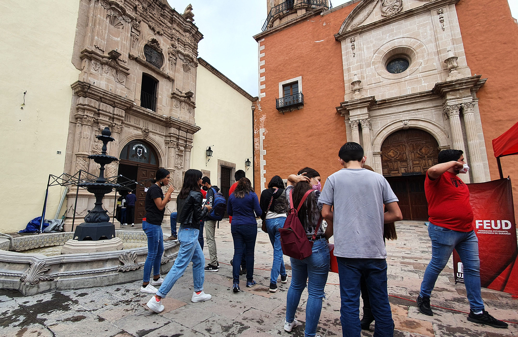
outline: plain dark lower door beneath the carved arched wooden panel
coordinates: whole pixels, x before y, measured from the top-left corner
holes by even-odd
[[[424,193],[425,175],[386,177],[399,199],[404,220],[428,220],[428,203]]]

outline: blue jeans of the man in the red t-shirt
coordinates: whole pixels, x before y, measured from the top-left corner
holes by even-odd
[[[439,273],[448,263],[455,248],[464,266],[464,285],[469,307],[473,312],[484,310],[480,293],[479,240],[474,231],[458,232],[431,223],[428,225],[431,239],[431,261],[424,272],[421,297],[430,297]]]

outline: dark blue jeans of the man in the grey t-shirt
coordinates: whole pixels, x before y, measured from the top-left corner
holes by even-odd
[[[394,320],[387,292],[387,263],[385,259],[350,259],[337,257],[340,278],[340,321],[342,336],[357,337],[362,333],[359,323],[360,278],[365,283],[374,316],[374,337],[392,337]]]

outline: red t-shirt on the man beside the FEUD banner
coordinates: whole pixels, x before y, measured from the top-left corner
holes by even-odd
[[[431,223],[458,232],[474,229],[468,186],[455,174],[447,171],[435,180],[426,174],[424,191]]]

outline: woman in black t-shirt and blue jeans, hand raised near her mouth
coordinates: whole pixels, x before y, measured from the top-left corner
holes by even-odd
[[[144,263],[144,278],[141,292],[156,293],[154,286],[160,286],[164,279],[160,277],[160,262],[164,252],[164,235],[162,234],[162,220],[164,219],[165,206],[171,201],[171,193],[175,190],[170,186],[164,195],[162,186],[169,184],[169,171],[159,169],[156,171],[154,184],[146,192],[146,221],[142,221],[142,230],[148,236],[148,257]],[[149,283],[151,268],[153,268],[153,280]]]

